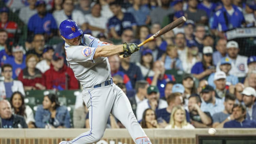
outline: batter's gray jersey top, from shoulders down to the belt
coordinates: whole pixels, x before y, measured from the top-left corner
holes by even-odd
[[[104,45],[110,44],[87,34],[82,38],[80,46],[69,46],[65,43],[66,59],[83,88],[92,87],[111,78],[108,58],[93,59],[96,48]]]

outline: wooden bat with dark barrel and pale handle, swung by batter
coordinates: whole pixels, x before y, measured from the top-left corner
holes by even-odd
[[[149,41],[154,40],[155,38],[165,34],[166,32],[169,32],[170,30],[174,29],[175,27],[179,26],[181,23],[186,22],[186,18],[184,16],[176,19],[175,21],[171,22],[169,25],[165,26],[161,30],[159,30],[157,33],[154,35],[150,36],[148,39],[146,39],[144,42],[140,43],[138,47],[141,47],[142,45],[146,44]],[[124,58],[123,54],[119,55],[120,58]]]

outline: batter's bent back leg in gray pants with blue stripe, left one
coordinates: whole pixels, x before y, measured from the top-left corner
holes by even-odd
[[[89,109],[90,130],[69,141],[70,144],[90,144],[103,137],[114,103],[113,91],[113,86],[83,91],[83,100]]]

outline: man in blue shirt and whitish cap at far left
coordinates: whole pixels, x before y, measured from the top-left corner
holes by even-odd
[[[26,57],[23,55],[23,47],[15,46],[12,48],[12,57],[9,57],[4,63],[10,64],[13,67],[13,79],[16,79],[20,71],[26,67]]]

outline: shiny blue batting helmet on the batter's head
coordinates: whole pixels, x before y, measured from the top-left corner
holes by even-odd
[[[60,33],[66,39],[72,39],[83,34],[83,30],[79,28],[73,20],[66,19],[60,24]]]

